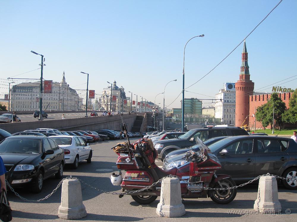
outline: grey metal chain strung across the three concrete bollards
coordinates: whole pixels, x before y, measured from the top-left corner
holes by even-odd
[[[216,190],[216,191],[217,191],[217,190],[237,189],[238,187],[245,186],[245,185],[247,185],[247,184],[249,184],[249,183],[252,183],[252,182],[254,182],[254,181],[260,179],[260,177],[262,177],[262,176],[274,176],[274,177],[279,178],[279,179],[282,179],[282,180],[295,181],[295,182],[297,182],[297,179],[284,178],[284,177],[280,177],[280,176],[277,176],[277,175],[273,175],[273,174],[269,174],[269,173],[267,173],[267,174],[259,175],[259,176],[257,176],[256,178],[254,178],[254,179],[252,179],[252,180],[250,180],[250,181],[248,181],[248,182],[246,182],[246,183],[242,183],[242,184],[240,184],[240,185],[238,185],[238,186],[225,187],[225,188],[211,188],[211,187],[204,187],[204,186],[201,186],[200,188],[201,188],[201,189],[206,189],[206,190]],[[6,184],[7,184],[7,186],[11,189],[11,191],[12,191],[17,197],[19,197],[20,199],[25,200],[25,201],[28,201],[28,202],[41,202],[41,201],[43,201],[43,200],[48,199],[49,197],[51,197],[51,196],[57,191],[57,189],[61,186],[61,184],[63,183],[63,181],[66,180],[66,179],[78,180],[78,181],[80,181],[81,183],[85,184],[86,186],[89,186],[90,188],[95,189],[95,190],[97,190],[97,191],[99,191],[99,192],[102,192],[102,193],[105,193],[105,194],[129,195],[129,194],[133,194],[133,193],[139,193],[139,192],[142,192],[142,191],[147,191],[147,190],[150,189],[151,187],[154,187],[154,186],[157,185],[158,183],[161,183],[162,180],[164,180],[165,178],[178,178],[179,180],[184,181],[184,182],[186,182],[187,184],[190,184],[190,185],[197,185],[196,183],[191,183],[191,182],[189,182],[188,180],[186,180],[186,179],[182,179],[182,178],[180,178],[180,177],[178,177],[178,176],[176,176],[176,175],[168,175],[168,176],[165,176],[165,177],[159,179],[157,182],[155,182],[155,183],[151,184],[150,186],[147,186],[147,187],[145,187],[145,188],[143,188],[143,189],[135,190],[135,191],[126,191],[126,192],[117,193],[117,192],[109,192],[109,191],[100,190],[100,189],[98,189],[98,188],[96,188],[96,187],[93,187],[93,186],[87,184],[86,182],[82,181],[81,179],[79,179],[79,178],[77,178],[77,177],[71,177],[71,176],[70,176],[70,177],[66,177],[66,178],[64,178],[63,180],[61,180],[61,181],[59,182],[58,186],[57,186],[57,187],[56,187],[50,194],[48,194],[46,197],[44,197],[44,198],[42,198],[42,199],[39,199],[39,200],[30,200],[30,199],[26,199],[26,198],[20,196],[20,194],[18,194],[17,192],[15,192],[15,190],[10,186],[10,184],[8,183],[7,180],[6,180]],[[259,196],[259,202],[260,202],[260,189],[258,190],[258,193],[259,193],[258,196]],[[258,207],[259,207],[259,202],[257,203]]]

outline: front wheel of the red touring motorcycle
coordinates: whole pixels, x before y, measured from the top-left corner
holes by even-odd
[[[219,185],[219,182],[222,187]],[[232,186],[236,186],[235,182],[231,178],[226,178],[216,182],[213,188],[230,188]],[[228,204],[236,197],[237,189],[214,190],[213,192],[210,198],[214,202],[218,204]]]

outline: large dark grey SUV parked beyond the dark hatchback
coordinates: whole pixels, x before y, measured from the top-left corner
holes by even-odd
[[[203,129],[192,129],[176,139],[157,140],[154,147],[158,152],[158,159],[163,160],[165,156],[177,149],[196,145],[196,139],[202,142],[218,136],[239,136],[249,135],[248,132],[240,127],[207,127]]]

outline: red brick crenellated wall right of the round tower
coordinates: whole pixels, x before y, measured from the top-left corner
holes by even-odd
[[[292,95],[291,92],[278,93],[278,96],[285,102],[286,107],[289,108],[289,98]],[[249,96],[249,127],[252,130],[255,129],[255,117],[252,117],[255,114],[255,108],[267,103],[267,99],[270,99],[271,94],[263,94],[263,95],[250,95]],[[264,101],[263,101],[264,100]],[[262,123],[256,121],[256,129],[262,128]],[[266,128],[270,129],[270,125]]]

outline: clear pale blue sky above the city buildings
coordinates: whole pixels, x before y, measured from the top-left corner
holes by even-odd
[[[74,89],[86,88],[83,71],[95,93],[116,80],[127,96],[131,91],[154,102],[166,83],[177,79],[166,87],[165,105],[180,108],[186,42],[205,35],[187,44],[185,87],[225,58],[278,2],[1,1],[0,78],[39,68],[40,56],[33,50],[45,56],[45,79],[60,82],[65,71]],[[297,88],[296,9],[297,1],[283,0],[246,39],[255,90],[291,76],[274,85]],[[185,92],[185,98],[212,98],[225,82],[236,82],[242,49],[243,43],[187,89],[193,93]],[[40,69],[16,77],[40,78]],[[0,92],[2,98],[8,89]],[[156,103],[162,100],[158,95]]]

